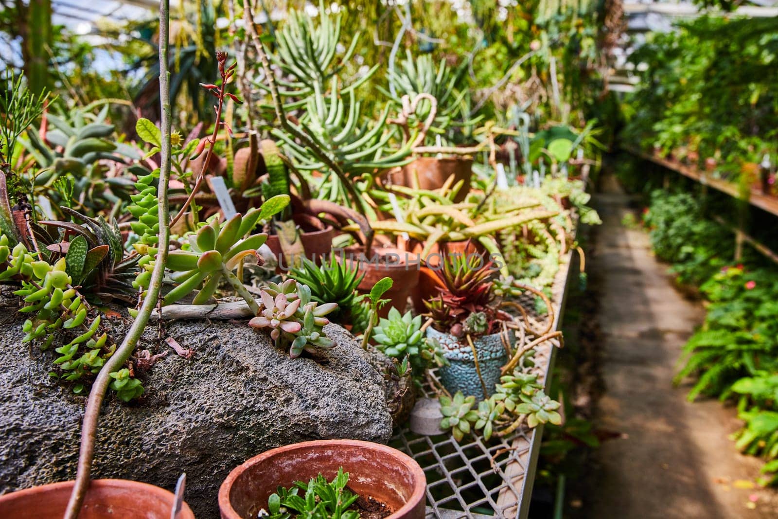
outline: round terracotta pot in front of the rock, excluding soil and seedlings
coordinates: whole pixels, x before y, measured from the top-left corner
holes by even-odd
[[[279,486],[289,488],[320,473],[331,481],[338,468],[349,473],[355,493],[391,508],[389,519],[425,516],[426,478],[412,458],[367,441],[317,440],[272,449],[230,472],[219,489],[222,519],[257,517]]]

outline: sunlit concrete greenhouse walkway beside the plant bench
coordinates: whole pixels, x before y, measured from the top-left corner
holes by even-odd
[[[647,234],[622,225],[629,196],[612,177],[596,202],[591,279],[599,291],[604,393],[597,426],[617,431],[594,454],[588,517],[778,517],[772,491],[753,484],[761,463],[738,453],[734,409],[687,402],[673,387],[678,355],[704,316],[651,255]]]

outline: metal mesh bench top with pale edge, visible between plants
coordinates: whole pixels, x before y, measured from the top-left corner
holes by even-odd
[[[552,286],[554,330],[559,327],[564,308],[570,259],[570,253],[562,258]],[[525,309],[534,308],[534,296],[525,296],[519,302],[524,303]],[[529,312],[529,320],[532,328],[548,325],[548,321],[534,311]],[[524,338],[524,343],[534,338],[527,330],[520,336]],[[535,369],[546,387],[557,346],[559,341],[550,339],[535,348]],[[422,388],[422,396],[434,398],[433,384],[438,384],[438,381],[434,372],[430,378],[430,384]],[[412,456],[424,470],[427,478],[426,517],[524,519],[529,510],[541,436],[542,426],[538,426],[534,430],[520,428],[508,437],[492,437],[489,442],[480,435],[468,435],[461,444],[457,444],[450,434],[422,436],[401,427],[395,430],[390,445]]]

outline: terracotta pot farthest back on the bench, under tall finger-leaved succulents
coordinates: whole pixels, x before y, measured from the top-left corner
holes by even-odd
[[[388,174],[388,180],[392,184],[413,186],[414,173],[419,176],[419,188],[439,189],[446,179],[454,174],[454,184],[464,181],[462,188],[457,193],[454,202],[462,202],[470,191],[470,177],[472,175],[472,159],[463,159],[457,156],[451,157],[419,157],[400,170],[393,170]],[[453,185],[453,184],[452,184]]]

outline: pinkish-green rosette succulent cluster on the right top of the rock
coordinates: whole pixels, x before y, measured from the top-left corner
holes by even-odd
[[[261,307],[249,326],[270,331],[275,345],[289,346],[289,356],[293,359],[303,350],[315,352],[335,345],[322,328],[329,324],[324,316],[338,307],[336,303],[319,305],[310,299],[310,288],[294,279],[281,284],[269,283],[260,296]]]

